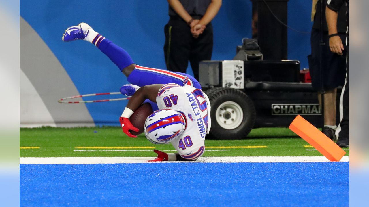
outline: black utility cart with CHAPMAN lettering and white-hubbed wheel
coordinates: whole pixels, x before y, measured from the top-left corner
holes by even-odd
[[[317,91],[300,83],[298,60],[211,60],[199,71],[211,104],[207,138],[242,139],[253,128],[288,127],[298,114],[321,126]]]

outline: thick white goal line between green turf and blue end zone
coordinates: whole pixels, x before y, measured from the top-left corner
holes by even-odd
[[[21,157],[20,164],[119,164],[146,162],[155,157]],[[348,162],[345,156],[340,162]],[[178,162],[178,161],[177,161]],[[192,162],[330,162],[323,156],[312,157],[200,157]],[[191,162],[191,163],[192,163]]]

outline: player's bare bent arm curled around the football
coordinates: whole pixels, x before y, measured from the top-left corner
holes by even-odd
[[[127,103],[127,108],[135,111],[138,107],[145,101],[145,99],[149,99],[152,102],[156,103],[156,97],[160,88],[164,84],[152,84],[145,85],[139,88],[131,97],[130,101]]]

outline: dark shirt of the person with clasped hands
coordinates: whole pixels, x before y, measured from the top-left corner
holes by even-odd
[[[179,0],[187,13],[191,16],[203,16],[211,0]],[[178,14],[169,6],[169,16]]]

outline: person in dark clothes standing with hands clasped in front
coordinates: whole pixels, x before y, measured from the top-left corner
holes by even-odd
[[[199,79],[199,62],[210,60],[213,26],[221,0],[168,0],[169,22],[164,27],[164,56],[170,71],[186,73],[190,61],[194,78]]]

